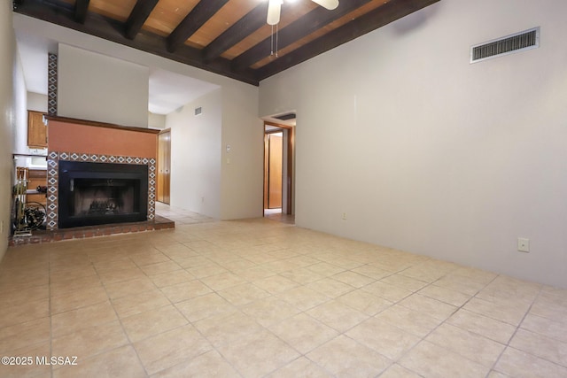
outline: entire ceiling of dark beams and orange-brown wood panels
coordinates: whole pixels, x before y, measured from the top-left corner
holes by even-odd
[[[340,0],[328,11],[268,0],[14,0],[14,12],[258,85],[263,79],[439,0]],[[277,41],[277,48],[276,48]],[[347,57],[346,57],[347,58]]]

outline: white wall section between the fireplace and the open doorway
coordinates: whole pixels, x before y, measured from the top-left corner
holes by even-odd
[[[257,94],[252,86],[233,83],[167,114],[172,206],[221,220],[262,216]],[[196,116],[198,107],[202,113]]]

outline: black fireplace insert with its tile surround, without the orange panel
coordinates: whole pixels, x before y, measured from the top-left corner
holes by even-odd
[[[86,164],[86,166],[80,169],[80,171],[77,171],[77,168],[75,168],[76,174],[73,177],[69,177],[69,174],[64,172],[68,172],[71,165],[76,167],[77,164],[81,166],[81,163]],[[50,150],[48,167],[47,229],[153,220],[155,217],[155,158]],[[144,179],[140,177],[140,174],[144,175]],[[96,177],[97,175],[98,177]],[[134,177],[135,175],[137,176],[136,178]],[[109,189],[111,188],[109,185],[106,186],[106,189],[102,188],[102,183],[108,180],[113,180],[113,188],[117,188],[119,185],[128,186],[128,182],[131,181],[145,180],[145,182],[132,184],[130,185],[132,188],[128,189],[131,193],[128,193],[127,190],[127,193],[119,195],[120,197],[132,197],[132,199],[136,197],[136,204],[133,203],[134,201],[132,201],[131,205],[108,204],[107,207],[121,207],[122,209],[113,211],[117,212],[114,217],[110,216],[110,214],[97,216],[97,209],[92,209],[92,207],[100,208],[103,206],[103,202],[115,201],[114,198],[117,197],[115,194],[109,194],[112,191],[112,189]],[[73,188],[71,188],[72,185]],[[135,191],[136,193],[134,193]],[[142,196],[145,196],[145,198],[142,198]],[[85,204],[77,204],[80,201],[79,197],[92,197],[88,204],[89,209],[84,208]],[[84,203],[82,198],[81,202]],[[138,206],[137,208],[136,205]],[[143,208],[139,206],[143,206]],[[89,210],[92,210],[90,215],[81,217],[81,212],[88,212]]]

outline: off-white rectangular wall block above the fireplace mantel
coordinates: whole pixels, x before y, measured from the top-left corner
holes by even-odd
[[[58,115],[148,126],[150,69],[59,43]]]

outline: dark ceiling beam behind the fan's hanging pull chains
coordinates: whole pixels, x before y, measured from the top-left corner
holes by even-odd
[[[300,19],[291,22],[290,25],[280,30],[278,35],[278,48],[283,49],[291,43],[299,41],[299,39],[310,35],[320,27],[330,24],[330,22],[340,19],[346,14],[360,8],[361,5],[369,3],[370,0],[349,0],[342,1],[338,4],[337,9],[328,11],[322,6],[316,7],[313,11],[307,13]],[[270,49],[271,37],[266,38],[262,42],[256,44],[252,49],[245,51],[232,60],[233,69],[241,70],[245,67],[252,66],[254,63],[266,58]]]

